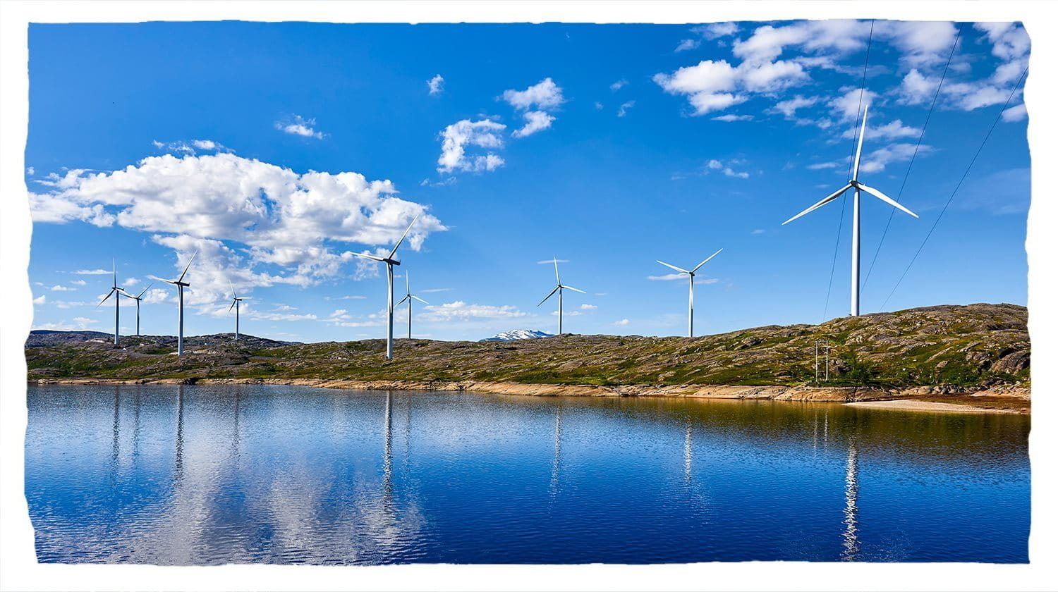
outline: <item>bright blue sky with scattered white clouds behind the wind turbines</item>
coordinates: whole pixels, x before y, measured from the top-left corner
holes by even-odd
[[[918,248],[1027,63],[1020,25],[878,21],[709,25],[37,24],[26,185],[38,329],[112,330],[95,308],[116,258],[139,293],[188,273],[187,333],[298,340],[385,334],[385,278],[353,252],[401,248],[415,334],[554,332],[558,257],[574,333],[678,335],[847,314],[842,201],[870,37],[861,180],[897,212],[862,310],[1026,300],[1020,90]],[[952,44],[937,108],[918,141]],[[821,41],[821,40],[826,40]],[[115,172],[118,171],[118,172]],[[864,197],[863,275],[890,209]],[[828,306],[827,280],[835,265]],[[81,272],[81,273],[79,273]],[[398,290],[402,292],[402,290]],[[172,334],[156,283],[146,333]],[[131,308],[124,309],[131,312]],[[401,315],[403,315],[401,310]],[[398,316],[398,323],[402,322]],[[133,330],[123,315],[123,332]],[[399,325],[399,327],[403,327]],[[398,334],[401,334],[398,332]]]

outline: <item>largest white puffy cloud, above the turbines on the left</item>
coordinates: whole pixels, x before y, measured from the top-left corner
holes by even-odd
[[[231,153],[166,154],[110,172],[71,172],[52,191],[30,193],[30,202],[36,222],[104,219],[101,225],[149,233],[177,252],[174,273],[199,251],[193,302],[225,294],[229,278],[309,285],[335,277],[353,258],[341,243],[391,244],[416,215],[405,248],[418,251],[430,233],[444,229],[424,206],[398,198],[389,181],[297,173]]]

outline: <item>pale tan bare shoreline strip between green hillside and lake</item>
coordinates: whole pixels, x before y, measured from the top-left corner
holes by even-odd
[[[477,381],[355,381],[325,378],[37,378],[37,385],[286,385],[348,390],[481,392],[527,396],[662,396],[742,401],[841,403],[853,407],[931,412],[1029,414],[1030,390],[1001,386],[969,390],[951,386],[786,387],[730,385],[548,385]],[[938,401],[943,399],[945,401]]]

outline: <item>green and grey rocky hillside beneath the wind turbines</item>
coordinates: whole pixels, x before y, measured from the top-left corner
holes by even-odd
[[[1027,385],[1027,311],[940,306],[768,326],[701,337],[562,335],[514,341],[398,339],[289,344],[231,334],[63,339],[31,335],[31,380],[317,378],[557,385],[784,385],[814,382],[815,344],[832,345],[828,386]],[[105,336],[105,334],[104,334]],[[821,362],[822,364],[822,362]]]

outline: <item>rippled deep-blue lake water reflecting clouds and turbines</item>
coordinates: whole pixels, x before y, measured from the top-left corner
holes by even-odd
[[[1025,417],[273,386],[29,411],[40,561],[1027,560]]]

